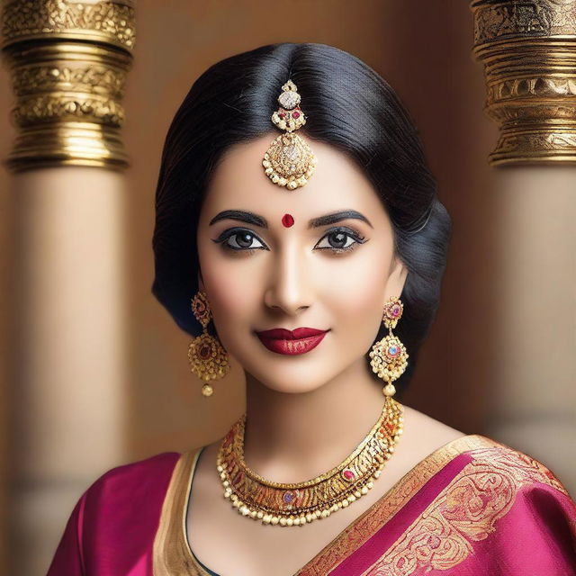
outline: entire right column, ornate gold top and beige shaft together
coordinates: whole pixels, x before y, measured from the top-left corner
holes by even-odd
[[[576,2],[471,3],[487,114],[500,124],[500,309],[493,436],[576,493]]]

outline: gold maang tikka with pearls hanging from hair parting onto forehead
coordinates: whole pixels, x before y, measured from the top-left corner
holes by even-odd
[[[278,96],[280,108],[271,117],[275,125],[280,130],[286,130],[286,133],[273,140],[262,160],[270,180],[289,190],[306,184],[318,163],[308,144],[293,133],[306,123],[306,117],[299,106],[300,100],[296,85],[288,80],[282,86],[282,94]]]

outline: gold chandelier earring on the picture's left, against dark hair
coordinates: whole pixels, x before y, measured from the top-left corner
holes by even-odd
[[[205,382],[202,395],[211,396],[214,390],[209,382],[223,378],[229,372],[228,355],[218,339],[208,334],[211,310],[205,293],[199,291],[193,297],[192,311],[194,318],[202,324],[202,334],[188,347],[190,370]]]

